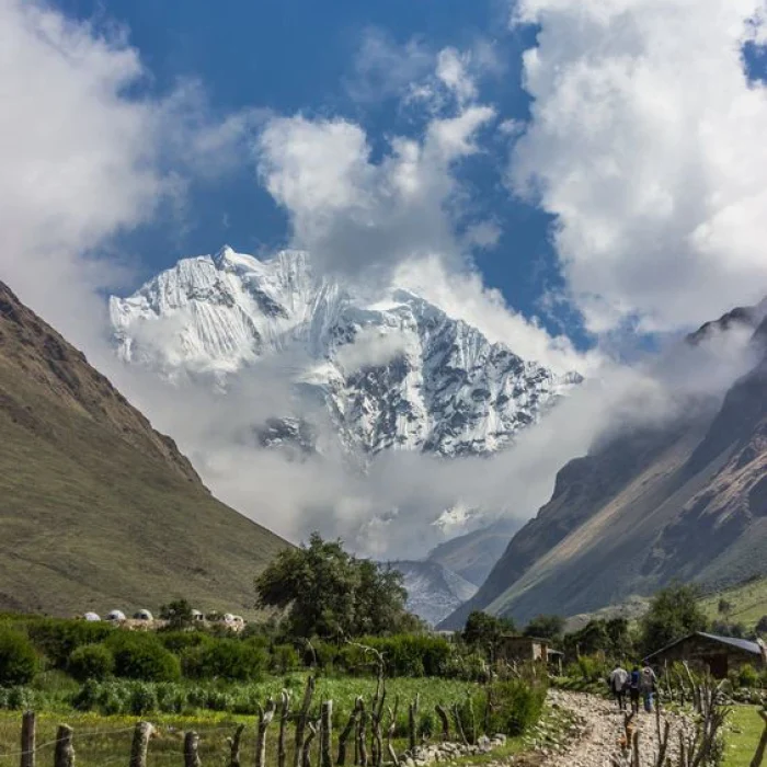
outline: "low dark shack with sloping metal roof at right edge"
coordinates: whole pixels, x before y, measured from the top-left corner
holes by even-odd
[[[708,668],[716,679],[725,678],[729,672],[746,663],[756,667],[767,665],[767,654],[763,644],[705,631],[696,631],[677,639],[644,660],[656,666],[686,661],[690,665]]]

